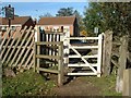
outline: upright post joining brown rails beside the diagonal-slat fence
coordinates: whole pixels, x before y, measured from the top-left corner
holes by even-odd
[[[40,41],[40,30],[39,27],[37,27],[37,40]],[[40,54],[40,46],[37,46],[37,54]],[[37,58],[37,73],[39,73],[39,65],[40,65],[40,59]]]

